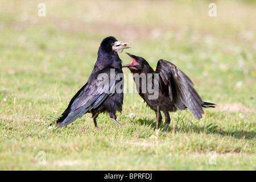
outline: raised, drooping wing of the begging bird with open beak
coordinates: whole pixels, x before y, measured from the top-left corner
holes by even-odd
[[[155,73],[159,73],[160,90],[168,92],[170,100],[174,102],[177,109],[183,110],[187,107],[196,119],[202,118],[204,102],[185,73],[163,59],[158,61]]]

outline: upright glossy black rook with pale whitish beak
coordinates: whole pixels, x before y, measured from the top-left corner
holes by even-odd
[[[115,92],[116,85],[123,82],[116,77],[122,72],[122,61],[118,52],[122,52],[127,47],[128,42],[118,42],[113,36],[102,40],[98,49],[97,61],[88,81],[73,96],[67,109],[57,119],[58,127],[69,125],[77,118],[81,118],[85,113],[92,113],[94,126],[97,127],[96,118],[98,114],[108,111],[109,117],[117,122],[115,113],[122,111],[123,93]],[[119,83],[120,85],[120,83]],[[122,85],[122,84],[121,84]]]

